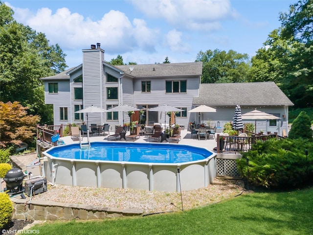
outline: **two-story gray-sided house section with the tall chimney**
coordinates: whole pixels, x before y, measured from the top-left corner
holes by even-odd
[[[100,44],[83,50],[83,63],[58,75],[42,78],[45,103],[53,104],[54,125],[81,123],[86,114],[75,111],[91,105],[106,113],[88,114],[89,123],[110,123],[111,126],[129,121],[127,112],[111,112],[117,105],[128,104],[145,109],[141,121],[169,123],[164,112],[148,112],[161,104],[183,110],[176,122],[187,126],[193,97],[199,95],[202,63],[152,64],[112,66],[104,62]],[[122,115],[124,117],[122,117]],[[165,116],[165,117],[164,117]]]

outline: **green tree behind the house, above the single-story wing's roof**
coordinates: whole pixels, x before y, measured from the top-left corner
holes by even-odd
[[[249,56],[234,50],[200,51],[196,62],[203,63],[202,83],[246,82]]]

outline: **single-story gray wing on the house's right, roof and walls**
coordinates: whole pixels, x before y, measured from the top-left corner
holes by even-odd
[[[237,104],[241,113],[245,114],[254,109],[279,117],[273,120],[256,120],[257,132],[277,132],[279,135],[288,133],[288,110],[293,103],[277,87],[274,82],[250,83],[204,83],[200,84],[199,96],[194,97],[193,105],[205,104],[216,108],[216,113],[203,113],[203,122],[211,122],[221,126],[232,121]],[[194,115],[196,122],[202,120]],[[255,120],[243,120],[244,123]]]

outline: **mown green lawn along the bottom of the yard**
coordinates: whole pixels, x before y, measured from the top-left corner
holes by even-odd
[[[255,192],[189,211],[47,222],[31,229],[45,235],[313,235],[313,188]]]

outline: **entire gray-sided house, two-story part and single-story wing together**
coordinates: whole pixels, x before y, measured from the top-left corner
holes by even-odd
[[[88,114],[89,124],[123,124],[129,121],[127,112],[110,111],[121,104],[145,110],[142,124],[164,123],[165,118],[169,123],[164,112],[147,111],[167,104],[183,110],[176,114],[179,125],[188,126],[195,120],[223,126],[232,120],[235,106],[240,104],[242,113],[258,108],[281,117],[275,132],[287,130],[288,107],[292,103],[275,83],[201,84],[201,62],[112,66],[105,63],[104,55],[100,44],[91,45],[83,50],[81,65],[42,78],[45,103],[53,104],[54,125],[86,121],[86,114],[75,112],[91,105],[107,112]],[[204,113],[203,119],[201,114],[200,120],[199,114],[188,112],[200,104],[214,107],[217,112]],[[274,130],[266,121],[259,126],[264,131]]]

